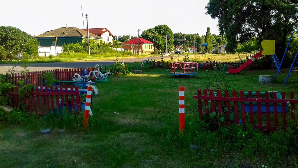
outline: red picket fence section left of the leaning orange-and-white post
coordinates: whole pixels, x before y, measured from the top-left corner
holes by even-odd
[[[28,97],[19,97],[18,87],[15,87],[10,92],[11,107],[17,107],[18,103],[25,102],[27,111],[38,115],[44,115],[50,110],[58,109],[59,104],[60,108],[66,105],[66,109],[72,112],[75,112],[75,106],[77,107],[77,113],[82,111],[78,86],[75,87],[75,90],[73,86],[70,86],[70,91],[68,91],[67,86],[64,87],[64,91],[62,86],[60,86],[59,89],[58,86],[55,88],[50,86],[49,89],[47,86],[45,86],[45,89],[43,89],[43,87],[40,87],[41,89],[38,88],[39,87],[36,86],[32,89]],[[69,109],[70,106],[72,109]]]

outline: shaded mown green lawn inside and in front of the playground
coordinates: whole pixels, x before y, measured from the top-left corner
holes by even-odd
[[[291,75],[286,87],[286,71],[274,84],[259,84],[258,76],[263,74],[275,73],[243,71],[227,74],[226,81],[230,90],[285,91],[287,97],[294,91],[298,98],[298,74]],[[278,136],[285,135],[282,131],[274,136],[256,131],[263,137],[261,145],[268,140],[276,148],[260,146],[261,152],[254,152],[256,147],[235,147],[236,142],[199,129],[198,102],[193,95],[197,88],[206,87],[204,75],[213,77],[212,71],[199,71],[193,77],[177,78],[166,69],[110,76],[108,83],[97,84],[100,95],[93,97],[94,115],[89,117],[91,128],[86,132],[70,129],[55,118],[1,123],[0,167],[298,167],[297,151],[278,143],[278,138],[286,138]],[[184,135],[178,131],[179,86],[185,87]],[[51,135],[41,136],[40,129],[48,128]],[[199,149],[190,149],[191,142]]]

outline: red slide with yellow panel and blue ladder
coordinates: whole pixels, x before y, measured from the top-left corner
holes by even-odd
[[[243,70],[245,67],[247,67],[249,64],[254,62],[256,59],[258,59],[262,55],[271,55],[275,66],[277,67],[278,71],[280,70],[280,65],[277,56],[275,55],[275,40],[264,40],[261,42],[263,50],[258,52],[256,55],[254,55],[251,59],[246,61],[244,64],[242,64],[240,67],[235,68],[235,69],[229,69],[228,73],[238,73],[241,70]],[[297,53],[298,54],[298,53]]]

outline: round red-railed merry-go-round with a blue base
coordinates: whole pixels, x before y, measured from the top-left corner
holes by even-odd
[[[197,71],[194,71],[194,69]],[[179,69],[176,72],[176,69]],[[170,74],[171,75],[196,75],[198,74],[198,63],[197,62],[171,62],[170,63]]]

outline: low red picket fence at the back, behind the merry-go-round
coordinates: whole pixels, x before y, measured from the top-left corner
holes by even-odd
[[[221,65],[236,65],[237,67],[241,66],[243,64],[243,62],[216,62],[216,61],[206,61],[205,63],[208,63],[206,65],[201,65],[199,66],[199,70],[212,70],[214,68],[214,66],[219,66],[219,64]],[[205,64],[204,62],[200,62],[198,64]],[[164,62],[164,61],[153,61],[153,67],[154,68],[169,68],[170,67],[170,62]],[[264,70],[264,66],[262,64],[258,64],[258,63],[252,63],[250,65],[248,65],[246,68],[244,68],[243,70]]]

